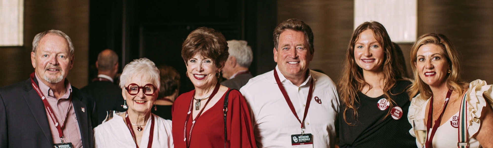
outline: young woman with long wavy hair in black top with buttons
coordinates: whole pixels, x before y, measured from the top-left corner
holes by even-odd
[[[402,78],[385,27],[364,22],[352,33],[339,81],[340,148],[415,148],[405,118],[411,82]]]

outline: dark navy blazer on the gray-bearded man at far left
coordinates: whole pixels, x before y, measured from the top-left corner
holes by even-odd
[[[91,118],[96,106],[90,100],[72,86],[72,105],[83,148],[93,148]],[[0,88],[0,148],[53,148],[48,117],[31,78]]]

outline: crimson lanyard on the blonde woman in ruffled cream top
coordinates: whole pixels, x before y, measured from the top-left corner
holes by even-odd
[[[440,116],[438,116],[438,118],[436,119],[435,124],[433,124],[433,129],[431,130],[431,135],[429,136],[429,138],[426,139],[426,143],[425,143],[426,148],[433,148],[432,147],[433,136],[435,136],[435,132],[438,129],[438,127],[440,126],[440,122],[442,122],[442,116],[443,116],[443,113],[445,112],[445,109],[447,109],[447,105],[449,104],[450,95],[452,95],[452,90],[449,90],[447,92],[447,96],[445,97],[446,98],[445,103],[443,105],[443,110],[440,113]],[[429,129],[431,127],[431,121],[432,120],[433,120],[433,96],[431,96],[431,98],[430,98],[430,105],[429,105],[429,109],[428,109],[428,120],[426,121],[426,133],[429,133]]]

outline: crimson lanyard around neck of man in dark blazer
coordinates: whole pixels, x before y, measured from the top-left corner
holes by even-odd
[[[44,109],[48,112],[51,120],[53,121],[53,124],[55,124],[55,127],[57,128],[58,130],[58,135],[60,136],[60,140],[62,141],[62,144],[64,143],[63,142],[63,128],[64,128],[64,125],[65,123],[67,122],[67,116],[69,114],[69,111],[70,111],[70,107],[72,106],[72,93],[70,93],[70,97],[69,97],[69,100],[70,100],[70,104],[69,104],[69,109],[67,110],[67,114],[65,115],[65,120],[64,122],[60,125],[58,124],[58,121],[57,121],[57,118],[55,117],[55,115],[53,114],[53,110],[51,109],[50,107],[50,104],[48,104],[48,101],[46,101],[46,98],[44,97],[43,95],[43,92],[41,92],[41,90],[39,90],[39,87],[37,86],[37,84],[35,83],[34,81],[34,73],[30,75],[31,76],[31,84],[33,85],[33,88],[36,90],[37,94],[39,95],[39,97],[41,97],[41,100],[43,101],[43,104],[44,104]]]

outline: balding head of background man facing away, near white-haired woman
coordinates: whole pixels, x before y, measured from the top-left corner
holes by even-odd
[[[98,71],[113,71],[118,63],[118,55],[111,49],[105,49],[98,54]]]

